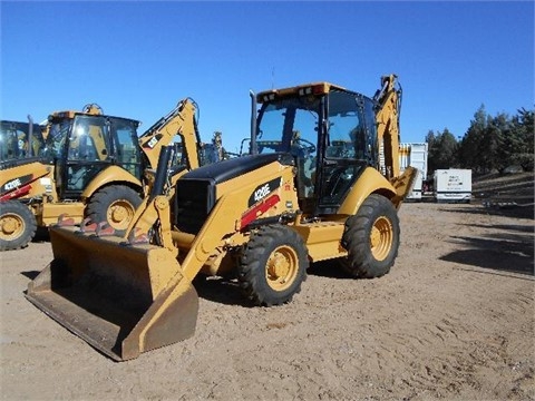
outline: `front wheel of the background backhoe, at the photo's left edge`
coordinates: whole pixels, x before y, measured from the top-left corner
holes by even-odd
[[[36,216],[28,206],[18,200],[0,202],[0,251],[28,246],[36,229]]]

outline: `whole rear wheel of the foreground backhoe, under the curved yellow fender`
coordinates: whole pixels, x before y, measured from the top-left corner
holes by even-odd
[[[371,194],[346,222],[342,246],[348,256],[340,261],[342,268],[354,277],[387,274],[398,256],[399,234],[399,217],[392,203]]]

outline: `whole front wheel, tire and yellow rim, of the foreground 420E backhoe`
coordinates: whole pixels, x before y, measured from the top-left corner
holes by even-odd
[[[308,267],[308,251],[298,233],[282,225],[263,226],[243,247],[237,278],[255,305],[272,306],[301,291]]]

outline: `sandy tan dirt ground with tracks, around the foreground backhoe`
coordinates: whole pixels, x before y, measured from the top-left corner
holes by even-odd
[[[405,204],[392,271],[313,265],[292,303],[197,283],[193,338],[114,362],[23,296],[48,242],[1,257],[2,400],[535,400],[534,221]]]

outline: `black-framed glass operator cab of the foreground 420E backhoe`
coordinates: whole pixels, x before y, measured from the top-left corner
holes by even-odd
[[[259,154],[291,154],[300,207],[335,214],[364,167],[378,165],[376,102],[328,82],[269,90],[256,125]]]

